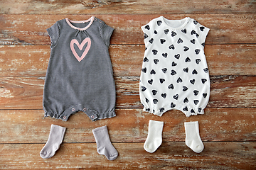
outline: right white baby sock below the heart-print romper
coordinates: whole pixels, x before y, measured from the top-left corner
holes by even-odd
[[[186,131],[186,145],[193,152],[200,153],[203,151],[203,142],[199,135],[198,121],[184,123]]]

